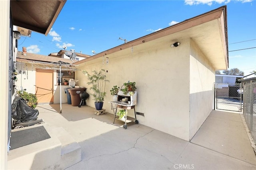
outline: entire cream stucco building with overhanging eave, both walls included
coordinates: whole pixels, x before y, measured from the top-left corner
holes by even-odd
[[[107,112],[112,113],[109,90],[136,82],[136,111],[144,113],[139,123],[190,141],[213,109],[215,70],[228,68],[226,6],[74,64],[89,72],[108,70]],[[76,80],[90,87],[82,71]],[[87,101],[94,107],[90,97]]]

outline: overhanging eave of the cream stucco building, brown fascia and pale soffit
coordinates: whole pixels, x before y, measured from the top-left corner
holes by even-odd
[[[160,31],[108,49],[87,59],[77,61],[81,64],[112,54],[116,57],[145,51],[152,47],[168,46],[175,42],[182,45],[183,39],[193,39],[202,53],[210,61],[215,70],[228,68],[228,34],[226,6],[222,6],[205,14],[182,21]]]

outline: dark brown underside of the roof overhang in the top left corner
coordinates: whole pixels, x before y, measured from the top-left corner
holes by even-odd
[[[13,25],[47,35],[66,0],[11,0]]]

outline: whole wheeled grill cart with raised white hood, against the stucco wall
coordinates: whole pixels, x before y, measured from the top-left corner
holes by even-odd
[[[128,101],[122,102],[122,99],[124,99],[124,98],[128,98]],[[119,121],[124,122],[124,125],[123,125],[124,129],[127,129],[127,123],[129,123],[129,124],[130,124],[130,122],[134,122],[135,124],[139,123],[139,121],[136,118],[136,111],[135,111],[135,106],[137,104],[137,92],[134,92],[134,95],[130,96],[129,94],[124,95],[122,91],[119,91],[118,92],[118,100],[116,102],[112,101],[112,102],[110,102],[110,104],[111,104],[111,109],[114,112],[114,121],[112,123],[113,125],[115,125],[114,124],[115,119],[118,119],[118,116],[116,116],[116,111],[118,108],[125,110],[125,119],[124,120],[118,119]],[[130,109],[134,109],[135,118],[127,116],[127,110],[130,110]]]

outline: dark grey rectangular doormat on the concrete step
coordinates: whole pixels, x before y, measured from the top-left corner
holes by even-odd
[[[32,143],[49,139],[50,135],[44,129],[44,126],[38,126],[30,129],[16,131],[11,133],[10,150],[24,147]]]

